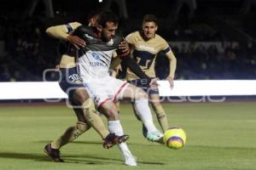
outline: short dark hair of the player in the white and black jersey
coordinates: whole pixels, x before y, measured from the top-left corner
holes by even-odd
[[[113,22],[114,24],[117,24],[118,20],[119,19],[116,14],[110,10],[106,10],[99,14],[97,22],[99,25],[105,27],[107,22]]]

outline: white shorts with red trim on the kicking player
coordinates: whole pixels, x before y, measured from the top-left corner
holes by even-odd
[[[116,79],[114,77],[104,77],[101,79],[83,79],[84,87],[95,101],[96,106],[103,105],[108,100],[116,102],[118,96],[122,96],[128,82]]]

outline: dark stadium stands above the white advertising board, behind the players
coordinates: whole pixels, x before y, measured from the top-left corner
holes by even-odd
[[[256,77],[255,1],[162,0],[157,5],[146,0],[109,1],[110,4],[96,0],[52,1],[52,11],[50,2],[2,1],[1,82],[42,81],[44,69],[55,66],[57,44],[45,34],[45,28],[73,20],[86,24],[91,11],[108,6],[119,14],[119,30],[124,35],[140,28],[143,14],[159,17],[159,33],[170,42],[178,59],[177,79]],[[119,8],[117,2],[124,2],[126,10]],[[164,78],[168,61],[163,57],[158,61],[156,71]]]

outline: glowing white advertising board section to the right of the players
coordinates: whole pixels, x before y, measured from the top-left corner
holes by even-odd
[[[159,81],[160,96],[229,96],[256,95],[255,80],[182,80]]]

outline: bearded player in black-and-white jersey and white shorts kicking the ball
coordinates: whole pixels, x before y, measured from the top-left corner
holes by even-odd
[[[86,47],[79,49],[79,76],[84,82],[90,96],[95,100],[98,109],[108,117],[108,127],[111,133],[123,135],[123,128],[119,122],[119,111],[115,101],[119,99],[134,100],[137,115],[148,129],[146,138],[158,141],[162,133],[154,126],[153,118],[148,106],[148,96],[142,88],[110,77],[109,65],[113,56],[127,57],[117,50],[122,37],[116,36],[118,19],[115,14],[107,11],[99,14],[96,29],[79,26],[73,35],[81,37]],[[136,166],[136,160],[131,155],[125,143],[119,144],[124,157],[129,157]],[[126,159],[125,159],[126,161]]]

